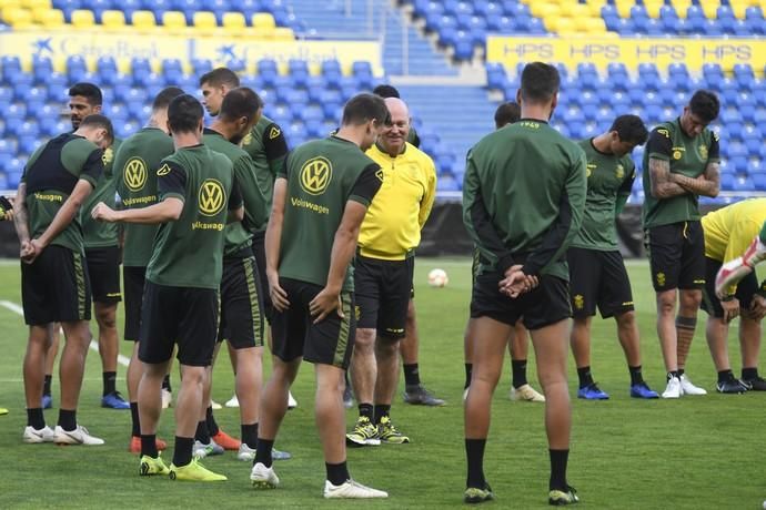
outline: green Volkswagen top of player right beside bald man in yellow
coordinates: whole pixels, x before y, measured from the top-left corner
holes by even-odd
[[[335,232],[346,202],[365,206],[381,187],[380,165],[359,145],[336,136],[308,142],[288,156],[278,177],[288,180],[280,245],[280,276],[324,287]],[[353,290],[353,269],[343,290]]]

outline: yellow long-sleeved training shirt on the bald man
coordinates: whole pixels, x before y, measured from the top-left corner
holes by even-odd
[[[365,257],[403,261],[421,242],[421,228],[436,196],[436,167],[407,143],[391,157],[373,145],[366,152],[383,171],[383,185],[364,216],[359,249]]]

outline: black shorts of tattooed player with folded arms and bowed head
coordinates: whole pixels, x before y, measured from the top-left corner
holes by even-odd
[[[699,222],[661,225],[644,232],[656,292],[705,286],[705,234]]]

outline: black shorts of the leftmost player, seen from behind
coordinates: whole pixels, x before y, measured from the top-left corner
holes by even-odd
[[[82,255],[50,245],[32,264],[22,262],[21,303],[29,326],[90,320],[90,280]]]

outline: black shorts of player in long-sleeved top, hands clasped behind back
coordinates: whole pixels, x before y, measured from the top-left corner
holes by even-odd
[[[540,329],[572,317],[570,288],[566,280],[543,275],[532,292],[512,299],[500,292],[504,278],[500,272],[476,276],[471,296],[471,317],[490,317],[514,326],[523,317],[527,329]]]

